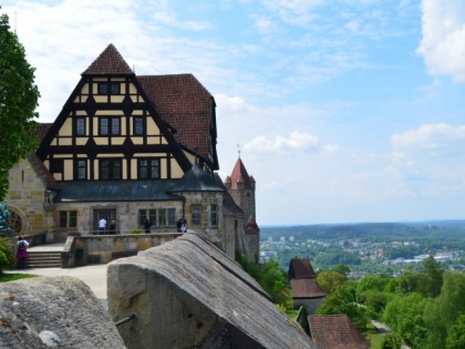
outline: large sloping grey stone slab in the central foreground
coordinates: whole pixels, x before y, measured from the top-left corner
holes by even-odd
[[[112,261],[113,319],[128,348],[314,348],[234,260],[196,234]]]

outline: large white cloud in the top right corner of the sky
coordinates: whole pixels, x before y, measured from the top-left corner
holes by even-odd
[[[423,0],[423,39],[417,49],[432,75],[465,81],[465,7],[463,0]]]

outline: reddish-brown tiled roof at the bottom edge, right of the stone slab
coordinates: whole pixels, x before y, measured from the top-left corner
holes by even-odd
[[[310,336],[319,349],[369,349],[370,342],[347,315],[308,317]]]

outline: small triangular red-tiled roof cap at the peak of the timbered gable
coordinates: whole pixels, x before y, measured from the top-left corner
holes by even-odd
[[[111,43],[82,75],[134,75],[134,72]]]

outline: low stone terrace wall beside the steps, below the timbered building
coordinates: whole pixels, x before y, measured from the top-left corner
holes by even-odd
[[[69,236],[61,254],[62,268],[106,264],[170,242],[183,234],[126,234]]]

